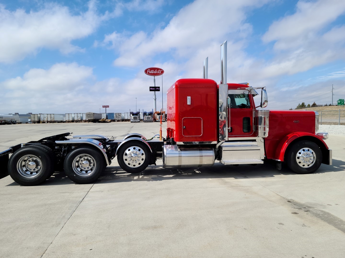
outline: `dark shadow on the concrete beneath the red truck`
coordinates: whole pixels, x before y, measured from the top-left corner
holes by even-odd
[[[345,162],[333,159],[333,165],[321,164],[320,168],[313,174],[329,172],[345,172]],[[162,168],[161,165],[150,165],[140,173],[127,173],[120,166],[109,166],[95,182],[96,184],[112,182],[130,182],[130,181],[162,181],[171,179],[216,179],[216,178],[233,178],[233,179],[256,179],[256,178],[274,178],[276,175],[299,175],[291,171],[285,164],[282,170],[277,170],[271,164],[258,164],[256,166],[239,165],[231,166],[215,163],[211,167],[204,168]],[[76,184],[71,181],[66,174],[61,172],[54,173],[49,179],[43,182],[44,185],[67,185]],[[6,186],[19,185],[16,182]]]

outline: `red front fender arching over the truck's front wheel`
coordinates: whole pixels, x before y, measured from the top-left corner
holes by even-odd
[[[276,149],[276,154],[275,154],[275,159],[276,160],[280,160],[280,161],[284,161],[284,155],[285,152],[287,150],[287,148],[289,147],[289,145],[297,140],[298,138],[300,138],[300,140],[312,140],[314,141],[316,144],[318,144],[318,146],[324,146],[326,150],[328,150],[327,144],[324,142],[324,140],[322,140],[321,138],[317,137],[316,135],[314,135],[313,133],[308,133],[308,132],[294,132],[294,133],[290,133],[289,135],[285,136],[280,143],[277,146]]]

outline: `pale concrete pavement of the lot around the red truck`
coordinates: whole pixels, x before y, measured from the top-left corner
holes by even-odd
[[[1,131],[4,150],[68,131],[152,137],[159,124]],[[113,160],[89,185],[63,173],[29,187],[7,176],[0,180],[0,257],[344,257],[345,136],[326,142],[333,165],[309,175],[270,165],[162,169],[161,161],[128,174]]]

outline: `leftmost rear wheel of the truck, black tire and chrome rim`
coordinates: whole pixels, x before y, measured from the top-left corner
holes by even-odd
[[[32,159],[30,162],[33,162],[32,164],[29,163],[30,159]],[[18,184],[38,185],[50,177],[53,162],[51,155],[45,148],[27,146],[11,155],[8,171],[11,178]]]

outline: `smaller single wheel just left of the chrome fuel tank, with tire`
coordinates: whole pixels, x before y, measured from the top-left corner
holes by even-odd
[[[136,157],[128,156],[128,152],[135,152]],[[144,155],[143,155],[144,154]],[[140,141],[129,141],[124,143],[117,152],[117,161],[120,167],[128,173],[139,173],[144,171],[150,162],[150,150],[147,145]],[[125,160],[130,157],[132,160]],[[144,159],[144,160],[143,160]],[[129,163],[130,162],[130,163]],[[137,162],[135,164],[135,162]],[[133,164],[132,164],[133,163]]]

